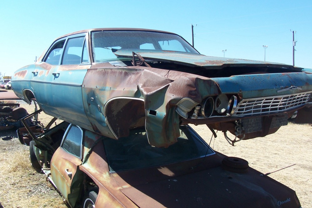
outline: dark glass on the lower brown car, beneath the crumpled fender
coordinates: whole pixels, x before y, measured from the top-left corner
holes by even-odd
[[[118,140],[105,138],[110,172],[161,166],[215,154],[189,126],[180,126],[181,136],[168,148],[152,147],[144,128],[130,131]]]

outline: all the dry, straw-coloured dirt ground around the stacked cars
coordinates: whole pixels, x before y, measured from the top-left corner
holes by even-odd
[[[32,113],[34,105],[19,101],[21,107]],[[39,115],[43,124],[50,121]],[[311,124],[293,124],[281,127],[263,138],[240,141],[231,146],[221,132],[217,138],[205,126],[192,127],[210,146],[227,156],[246,159],[249,166],[262,173],[274,172],[269,177],[296,191],[304,208],[312,207],[312,135]],[[28,159],[29,148],[19,143],[15,131],[0,132],[0,208],[1,207],[67,207],[45,175],[35,172]],[[232,136],[232,135],[231,135]],[[212,139],[211,139],[212,138]]]

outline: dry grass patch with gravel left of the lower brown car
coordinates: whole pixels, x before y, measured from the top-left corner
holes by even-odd
[[[67,207],[45,175],[31,167],[29,147],[17,138],[1,139],[0,145],[0,207]]]

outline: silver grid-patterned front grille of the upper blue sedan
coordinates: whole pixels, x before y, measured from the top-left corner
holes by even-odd
[[[310,92],[287,94],[280,96],[242,99],[236,106],[232,116],[278,113],[307,104]]]

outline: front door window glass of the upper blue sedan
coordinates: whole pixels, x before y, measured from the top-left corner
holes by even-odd
[[[64,50],[62,65],[81,64],[84,41],[84,36],[68,39]]]

